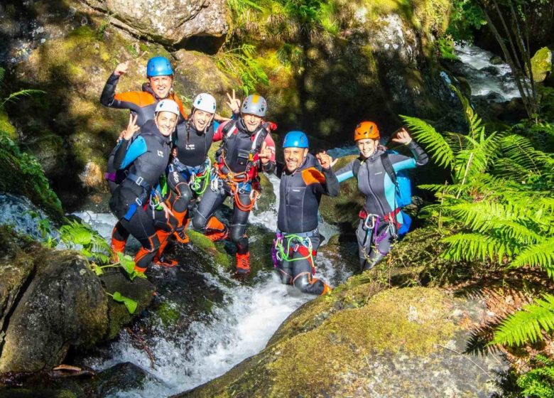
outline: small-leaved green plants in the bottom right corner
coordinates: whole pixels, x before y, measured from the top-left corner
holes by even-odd
[[[517,384],[525,397],[554,397],[554,360],[537,355],[535,361],[539,367],[518,377]]]

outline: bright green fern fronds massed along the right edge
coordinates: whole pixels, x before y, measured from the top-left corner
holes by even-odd
[[[514,131],[487,133],[467,99],[458,95],[467,134],[439,134],[420,119],[403,117],[433,160],[452,171],[452,184],[422,187],[433,190],[439,201],[424,210],[445,235],[441,257],[506,268],[541,267],[554,279],[553,154]],[[545,295],[509,316],[493,343],[541,339],[541,330],[554,329],[553,311],[554,296]]]

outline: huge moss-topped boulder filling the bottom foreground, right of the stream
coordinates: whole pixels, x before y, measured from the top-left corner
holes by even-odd
[[[268,346],[176,397],[489,397],[503,368],[467,353],[484,303],[426,288],[349,281],[305,304]]]

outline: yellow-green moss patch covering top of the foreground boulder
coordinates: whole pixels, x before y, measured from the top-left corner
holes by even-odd
[[[275,377],[271,396],[325,392],[341,384],[345,373],[367,367],[371,353],[430,353],[455,331],[447,318],[448,301],[432,289],[384,291],[362,308],[341,311],[319,328],[278,344],[278,357],[268,364]]]

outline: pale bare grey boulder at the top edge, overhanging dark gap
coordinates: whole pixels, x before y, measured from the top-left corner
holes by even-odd
[[[81,0],[102,10],[116,26],[135,36],[175,45],[192,36],[223,36],[227,33],[224,0]]]

